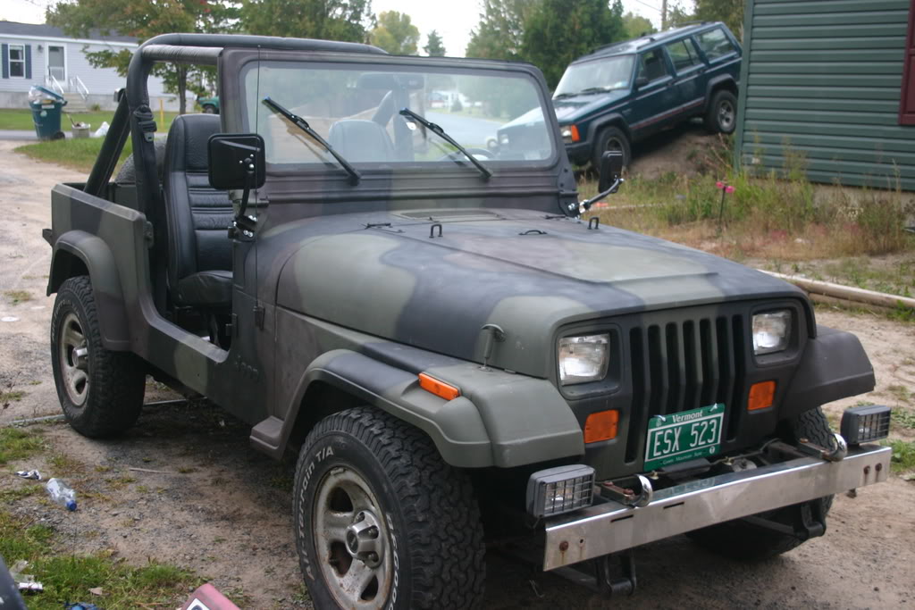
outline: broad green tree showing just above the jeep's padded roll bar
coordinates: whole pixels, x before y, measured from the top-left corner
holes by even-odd
[[[370,0],[242,0],[249,34],[365,42]]]

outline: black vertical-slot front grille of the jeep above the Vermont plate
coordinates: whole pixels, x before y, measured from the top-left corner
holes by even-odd
[[[745,375],[744,317],[697,317],[630,329],[632,408],[626,462],[645,451],[653,415],[726,406],[727,440],[737,436]]]

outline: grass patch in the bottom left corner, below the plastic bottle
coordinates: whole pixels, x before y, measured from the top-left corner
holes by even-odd
[[[152,560],[132,566],[111,552],[74,555],[54,549],[54,531],[0,510],[0,555],[10,565],[27,560],[27,573],[44,585],[29,598],[29,608],[60,608],[65,602],[87,600],[106,608],[175,607],[198,585],[199,577],[174,565]],[[103,595],[90,593],[100,587]]]

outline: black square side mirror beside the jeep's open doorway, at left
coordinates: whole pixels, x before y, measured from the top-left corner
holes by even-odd
[[[264,138],[258,134],[214,134],[208,143],[210,187],[260,188],[266,180]]]

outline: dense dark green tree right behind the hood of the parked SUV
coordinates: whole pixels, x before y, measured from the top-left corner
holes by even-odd
[[[622,15],[620,0],[541,0],[524,21],[522,58],[543,70],[554,88],[573,59],[625,39]]]

